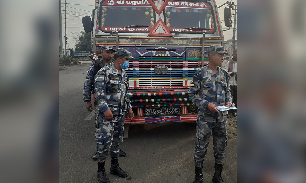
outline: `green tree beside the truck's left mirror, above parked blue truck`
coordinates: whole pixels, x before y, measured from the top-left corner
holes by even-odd
[[[76,41],[74,47],[75,51],[88,51],[91,52],[91,32],[84,32],[79,30],[79,32],[72,32],[72,39]]]

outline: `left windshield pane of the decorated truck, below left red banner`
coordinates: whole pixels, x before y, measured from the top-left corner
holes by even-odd
[[[134,2],[139,3],[133,5]],[[100,6],[99,20],[100,29],[103,32],[110,32],[129,25],[150,25],[150,27],[153,27],[155,12],[147,1],[105,0]],[[119,30],[119,32],[149,32],[150,27],[129,27]]]

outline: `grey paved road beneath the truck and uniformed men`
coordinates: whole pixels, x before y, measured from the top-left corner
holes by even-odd
[[[96,146],[94,122],[93,119],[84,120],[90,112],[82,101],[82,88],[89,66],[82,64],[59,71],[61,183],[98,182],[97,163],[91,160]],[[129,138],[121,145],[127,156],[119,157],[121,168],[128,171],[129,176],[119,178],[110,175],[110,158],[107,158],[106,173],[110,182],[192,183],[195,134],[193,123],[130,126]],[[236,140],[229,140],[223,170],[223,178],[227,183],[237,182],[236,148]],[[209,144],[204,164],[203,182],[211,183],[214,171],[212,143]]]

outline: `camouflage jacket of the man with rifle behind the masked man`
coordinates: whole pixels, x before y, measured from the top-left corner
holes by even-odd
[[[112,62],[112,61],[111,61]],[[103,62],[102,64],[106,66]],[[101,69],[101,67],[96,64],[92,63],[89,67],[89,70],[87,70],[86,73],[86,80],[84,83],[83,88],[83,101],[90,101],[91,100],[91,93],[95,94],[95,75],[98,73],[98,71]]]

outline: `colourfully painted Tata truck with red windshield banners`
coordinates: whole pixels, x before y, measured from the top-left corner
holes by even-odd
[[[208,63],[209,46],[223,45],[215,0],[97,0],[82,23],[99,58],[105,44],[135,58],[126,69],[134,118],[125,119],[125,137],[130,124],[196,122],[192,78]]]

